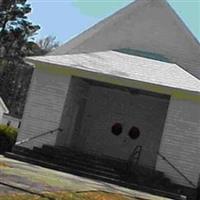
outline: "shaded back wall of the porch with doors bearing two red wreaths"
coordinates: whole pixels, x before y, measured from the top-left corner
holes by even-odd
[[[167,108],[166,99],[94,87],[83,119],[82,149],[128,160],[140,145],[139,163],[153,168]],[[119,133],[112,130],[116,124],[121,126]]]

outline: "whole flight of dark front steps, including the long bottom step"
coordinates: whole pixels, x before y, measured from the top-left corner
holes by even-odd
[[[14,148],[13,153],[7,152],[5,155],[20,161],[172,199],[181,200],[183,199],[181,194],[187,193],[181,191],[183,188],[171,183],[162,172],[135,167],[130,175],[123,160],[78,152],[69,148],[44,145],[42,148],[34,147],[30,150],[18,146]]]

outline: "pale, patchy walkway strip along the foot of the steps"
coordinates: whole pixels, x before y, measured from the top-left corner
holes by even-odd
[[[105,191],[120,193],[132,199],[167,200],[101,181],[43,168],[0,156],[0,195],[24,192]]]

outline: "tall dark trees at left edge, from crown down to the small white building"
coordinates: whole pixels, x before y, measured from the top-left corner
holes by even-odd
[[[30,39],[39,30],[27,18],[30,12],[27,0],[0,0],[0,95],[17,117],[22,116],[33,71],[23,58],[33,52]]]

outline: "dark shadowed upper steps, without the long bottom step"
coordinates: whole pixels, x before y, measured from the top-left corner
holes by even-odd
[[[127,170],[116,170],[106,165],[105,160],[99,161],[98,157],[93,155],[87,155],[87,159],[84,159],[85,154],[82,155],[80,152],[76,152],[71,149],[53,148],[52,146],[44,146],[42,148],[35,147],[33,150],[26,149],[22,151],[18,148],[17,153],[25,156],[31,156],[35,159],[59,164],[62,166],[68,166],[69,168],[80,169],[83,171],[90,171],[100,175],[109,177],[117,177],[121,179],[129,179],[129,182],[137,182],[141,185],[159,186],[163,189],[174,189],[174,185],[170,179],[166,178],[162,172],[155,172],[139,166],[135,167],[133,175],[130,177]],[[71,153],[72,152],[72,153]],[[75,154],[74,154],[75,152]],[[78,155],[78,156],[77,156]],[[115,161],[116,162],[116,161]],[[114,164],[115,166],[115,164]]]

